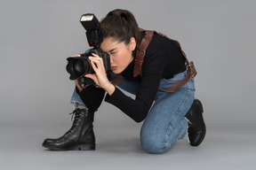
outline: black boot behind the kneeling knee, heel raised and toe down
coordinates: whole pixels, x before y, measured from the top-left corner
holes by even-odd
[[[194,99],[189,111],[186,114],[188,119],[188,139],[191,146],[198,146],[203,142],[206,134],[206,127],[203,118],[203,105],[198,99]]]

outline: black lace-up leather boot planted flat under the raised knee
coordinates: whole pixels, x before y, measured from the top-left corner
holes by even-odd
[[[95,150],[95,135],[92,129],[94,112],[76,108],[70,114],[75,114],[75,120],[68,132],[57,139],[45,139],[43,146],[53,151]]]

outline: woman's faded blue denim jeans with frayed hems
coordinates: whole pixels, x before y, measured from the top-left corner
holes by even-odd
[[[162,79],[159,89],[168,89],[186,76],[187,71],[174,75],[172,79]],[[136,95],[139,83],[123,79],[118,87]],[[188,134],[188,122],[184,116],[195,97],[194,78],[173,93],[158,91],[155,102],[140,130],[140,143],[149,153],[163,153],[178,140]],[[71,102],[83,104],[74,91]]]

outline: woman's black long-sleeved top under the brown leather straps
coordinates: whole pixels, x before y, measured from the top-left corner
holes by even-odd
[[[142,77],[133,77],[132,71],[134,59],[122,73],[128,81],[140,81],[140,89],[135,99],[127,97],[116,88],[114,93],[105,97],[105,101],[114,104],[132,120],[140,122],[148,114],[151,105],[156,97],[156,92],[161,79],[172,78],[184,66],[185,58],[180,48],[171,40],[162,35],[153,35],[148,44],[146,55],[142,65]]]

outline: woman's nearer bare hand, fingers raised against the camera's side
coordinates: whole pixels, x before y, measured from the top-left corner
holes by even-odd
[[[92,56],[93,57],[89,57],[89,59],[95,73],[88,73],[84,76],[91,78],[98,86],[100,86],[100,88],[105,89],[108,92],[108,95],[112,95],[116,88],[110,81],[108,81],[102,58],[93,53]]]

